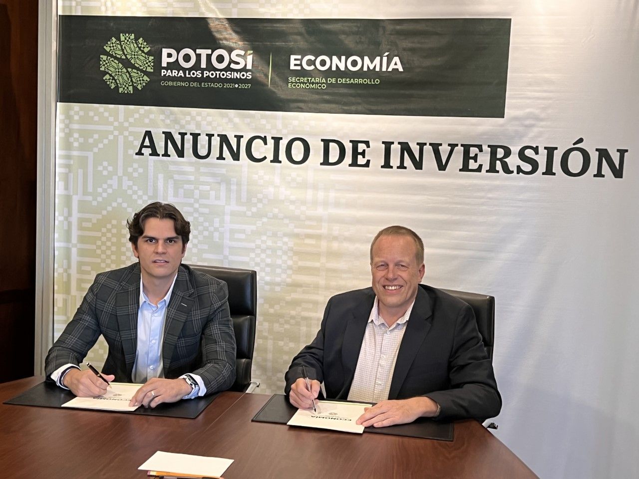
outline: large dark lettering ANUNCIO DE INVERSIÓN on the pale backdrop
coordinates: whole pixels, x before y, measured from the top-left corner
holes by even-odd
[[[159,133],[156,133],[158,135]],[[135,155],[163,156],[166,158],[185,158],[193,156],[198,160],[208,160],[213,154],[213,143],[217,137],[217,156],[215,160],[239,162],[247,160],[253,163],[290,163],[304,165],[311,157],[311,143],[302,137],[284,140],[283,137],[266,135],[225,135],[222,133],[161,132],[162,138],[156,141],[151,130],[142,135]],[[581,146],[583,138],[577,139],[572,146],[560,149],[558,146],[525,145],[516,151],[506,145],[482,145],[473,143],[381,141],[381,158],[369,158],[369,140],[349,140],[348,145],[337,139],[323,138],[317,146],[321,148],[321,166],[335,167],[346,165],[355,168],[371,168],[379,165],[381,169],[423,170],[424,164],[434,163],[438,171],[458,169],[469,173],[504,174],[541,174],[555,176],[564,174],[569,177],[592,173],[594,178],[604,178],[612,174],[613,178],[623,178],[624,160],[627,149],[610,150],[608,148],[586,149]],[[162,148],[158,150],[158,144]],[[591,153],[592,151],[592,153]],[[453,165],[451,167],[451,165]]]

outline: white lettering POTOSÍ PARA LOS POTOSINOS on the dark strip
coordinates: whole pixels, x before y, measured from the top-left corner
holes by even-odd
[[[235,71],[225,72],[225,68]],[[163,77],[250,79],[252,68],[252,50],[162,49]]]

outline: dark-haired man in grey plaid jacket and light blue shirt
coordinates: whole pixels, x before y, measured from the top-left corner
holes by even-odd
[[[132,406],[228,389],[235,381],[235,335],[226,284],[181,264],[189,222],[172,204],[153,202],[127,226],[138,262],[96,276],[47,354],[47,379],[77,396],[104,394],[107,383],[78,367],[103,335],[105,379],[144,383]]]

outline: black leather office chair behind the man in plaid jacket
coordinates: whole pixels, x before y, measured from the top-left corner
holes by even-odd
[[[237,344],[236,377],[231,391],[252,392],[259,386],[259,382],[251,381],[250,377],[258,316],[258,273],[253,270],[223,266],[191,266],[191,268],[226,282],[229,290],[229,310]]]

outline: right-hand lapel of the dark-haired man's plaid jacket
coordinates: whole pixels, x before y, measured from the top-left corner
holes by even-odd
[[[171,367],[171,360],[174,358],[175,345],[180,337],[182,327],[194,305],[195,290],[189,281],[187,271],[180,266],[178,277],[173,286],[171,301],[166,311],[164,319],[164,340],[162,343],[162,365],[164,372]]]

